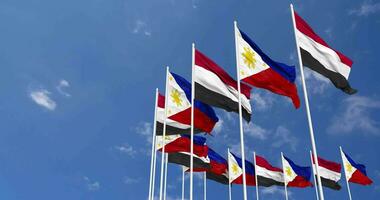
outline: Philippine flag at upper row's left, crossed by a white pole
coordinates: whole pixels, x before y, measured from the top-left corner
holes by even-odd
[[[166,132],[168,135],[178,133],[190,133],[191,84],[186,79],[174,73],[169,72],[167,78],[167,98],[169,99],[167,103],[167,119],[169,119],[169,127],[181,126],[182,129],[168,129]],[[218,117],[215,114],[215,111],[209,105],[206,105],[200,101],[194,101],[194,105],[195,132],[210,133],[214,128],[215,124],[219,121]],[[174,123],[176,123],[176,126],[173,125]],[[160,127],[157,127],[157,129],[162,130],[160,129]],[[186,132],[178,132],[182,130]],[[170,131],[176,132],[173,133]]]

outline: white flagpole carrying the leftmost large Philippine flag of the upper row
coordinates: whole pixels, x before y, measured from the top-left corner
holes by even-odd
[[[164,113],[164,128],[162,131],[162,153],[161,153],[161,177],[160,177],[160,200],[162,200],[162,192],[163,192],[163,182],[164,182],[164,163],[165,163],[165,136],[166,136],[166,115],[168,108],[168,75],[169,75],[169,67],[166,67],[166,84],[165,84],[165,113]]]

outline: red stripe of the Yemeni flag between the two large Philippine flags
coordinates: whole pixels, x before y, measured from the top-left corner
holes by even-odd
[[[216,74],[222,82],[235,88],[237,88],[237,81],[235,81],[226,71],[224,71],[219,65],[217,65],[210,58],[205,56],[203,53],[195,49],[195,65],[202,67],[208,71]],[[240,84],[241,93],[244,94],[248,99],[251,95],[251,88],[245,84]]]

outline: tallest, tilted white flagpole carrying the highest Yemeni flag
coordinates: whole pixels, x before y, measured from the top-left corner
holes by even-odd
[[[304,72],[303,72],[303,64],[302,64],[301,52],[300,52],[300,49],[299,49],[297,35],[296,35],[296,23],[295,23],[295,17],[294,17],[293,4],[290,4],[290,10],[292,12],[294,39],[296,41],[296,46],[297,46],[297,54],[298,54],[299,67],[300,67],[300,71],[301,71],[301,80],[302,80],[303,94],[304,94],[304,97],[305,97],[306,115],[307,115],[307,119],[308,119],[308,122],[309,122],[311,146],[312,146],[312,149],[313,149],[314,158],[318,158],[317,147],[316,147],[315,139],[314,139],[313,122],[311,120],[311,113],[310,113],[310,108],[309,108],[309,98],[308,98],[308,95],[307,95],[305,76],[304,76]],[[317,169],[319,168],[318,159],[315,160],[315,167]],[[319,175],[319,170],[316,170],[316,172],[317,172],[317,182],[318,182],[318,189],[319,189],[319,197],[320,197],[321,200],[324,200],[325,197],[323,195],[322,182],[321,182],[321,177]]]

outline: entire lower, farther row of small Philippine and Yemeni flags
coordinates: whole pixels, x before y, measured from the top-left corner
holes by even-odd
[[[162,136],[157,136],[162,141]],[[165,139],[165,153],[169,163],[190,166],[190,139],[188,135],[172,135]],[[162,151],[162,146],[157,146]],[[348,182],[370,185],[372,180],[367,176],[366,168],[356,163],[348,154],[341,151],[343,169]],[[207,179],[221,184],[243,184],[242,159],[228,151],[228,160],[206,145],[206,138],[194,137],[194,172],[206,172]],[[255,155],[254,162],[245,161],[247,185],[249,186],[284,186],[305,188],[313,186],[311,177],[316,175],[314,159],[312,167],[300,166],[290,158],[282,155],[282,168],[275,167],[264,157]],[[318,171],[324,187],[340,190],[341,164],[318,157]],[[257,181],[255,178],[257,176]]]

